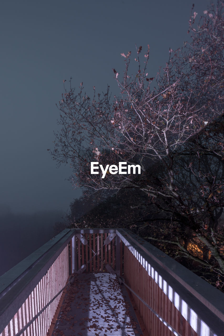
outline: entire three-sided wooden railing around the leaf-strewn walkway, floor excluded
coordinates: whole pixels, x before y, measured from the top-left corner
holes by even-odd
[[[46,336],[83,271],[115,272],[149,335],[223,335],[224,294],[184,266],[126,229],[67,229],[0,277],[0,336]]]

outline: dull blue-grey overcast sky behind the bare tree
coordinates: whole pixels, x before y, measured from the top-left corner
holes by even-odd
[[[195,0],[201,15],[210,3]],[[125,54],[133,69],[135,44],[150,46],[149,77],[165,66],[169,47],[189,40],[192,1],[83,0],[2,1],[0,209],[12,213],[66,211],[81,195],[65,179],[68,167],[56,168],[53,148],[63,80],[83,82],[91,97],[118,94],[112,68],[122,74]]]

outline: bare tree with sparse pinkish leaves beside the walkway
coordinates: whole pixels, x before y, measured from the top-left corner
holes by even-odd
[[[196,17],[192,10],[191,43],[175,52],[170,49],[170,59],[156,79],[146,70],[149,46],[143,69],[142,47],[136,48],[135,76],[128,74],[131,52],[121,54],[126,67],[122,80],[113,69],[121,90],[113,102],[109,86],[98,98],[94,87],[90,99],[83,94],[82,83],[77,95],[71,80],[68,89],[64,85],[58,105],[62,130],[55,134],[50,153],[59,164],[70,161],[71,180],[88,190],[136,188],[145,193],[155,213],[168,214],[185,233],[188,229],[188,236],[207,246],[214,269],[224,275],[223,235],[217,228],[224,190],[223,2],[204,11],[197,24]],[[91,174],[92,161],[104,167],[118,161],[138,164],[141,174],[107,171],[103,178]],[[177,237],[169,242],[189,254]]]

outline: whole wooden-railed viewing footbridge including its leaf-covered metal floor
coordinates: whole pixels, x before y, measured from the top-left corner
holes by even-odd
[[[127,229],[65,229],[0,277],[0,336],[223,336],[224,294]]]

